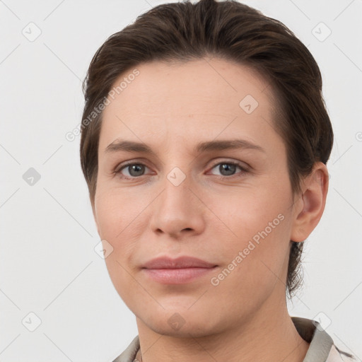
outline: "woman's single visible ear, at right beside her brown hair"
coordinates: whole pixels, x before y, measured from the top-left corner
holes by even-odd
[[[302,183],[302,194],[294,204],[291,240],[304,241],[319,223],[325,210],[329,185],[327,166],[317,162]]]

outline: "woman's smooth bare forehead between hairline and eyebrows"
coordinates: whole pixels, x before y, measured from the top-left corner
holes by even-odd
[[[224,59],[148,62],[124,72],[103,111],[100,150],[117,136],[134,141],[274,132],[274,97],[256,71]],[[114,88],[117,90],[117,88]],[[155,138],[156,137],[156,138]]]

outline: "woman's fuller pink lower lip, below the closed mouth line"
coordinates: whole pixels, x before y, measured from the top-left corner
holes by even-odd
[[[185,284],[214,271],[213,268],[142,269],[148,277],[161,284]]]

